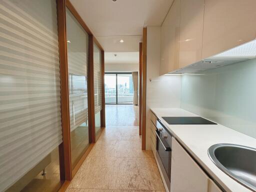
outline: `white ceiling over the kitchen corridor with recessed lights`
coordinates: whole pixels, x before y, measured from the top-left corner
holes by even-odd
[[[70,0],[105,52],[139,51],[143,26],[160,26],[172,1]],[[124,42],[120,43],[120,39]]]

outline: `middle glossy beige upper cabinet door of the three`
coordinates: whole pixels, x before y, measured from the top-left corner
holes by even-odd
[[[201,60],[203,12],[204,0],[181,0],[178,68]]]

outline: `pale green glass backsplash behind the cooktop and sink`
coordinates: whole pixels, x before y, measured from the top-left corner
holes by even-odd
[[[256,59],[182,75],[181,108],[256,138]]]

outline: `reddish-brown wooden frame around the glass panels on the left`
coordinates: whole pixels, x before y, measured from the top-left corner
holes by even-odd
[[[59,191],[64,191],[70,180],[74,177],[83,160],[89,153],[96,141],[95,135],[95,113],[94,113],[94,84],[93,84],[93,43],[95,43],[101,52],[101,70],[102,70],[102,109],[100,111],[101,127],[105,126],[105,103],[104,103],[104,50],[93,36],[90,29],[82,20],[69,0],[56,0],[57,3],[57,23],[58,23],[58,44],[59,44],[59,67],[60,67],[60,92],[61,92],[61,123],[63,142],[59,145],[60,178],[65,180]],[[73,14],[82,28],[88,33],[88,72],[87,72],[87,96],[88,96],[88,133],[89,146],[80,160],[73,167],[71,166],[70,149],[70,122],[69,122],[69,90],[68,90],[68,62],[67,62],[67,39],[66,39],[66,8]]]

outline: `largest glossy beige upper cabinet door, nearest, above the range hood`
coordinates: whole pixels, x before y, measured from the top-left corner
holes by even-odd
[[[255,39],[256,0],[205,0],[202,58]]]

